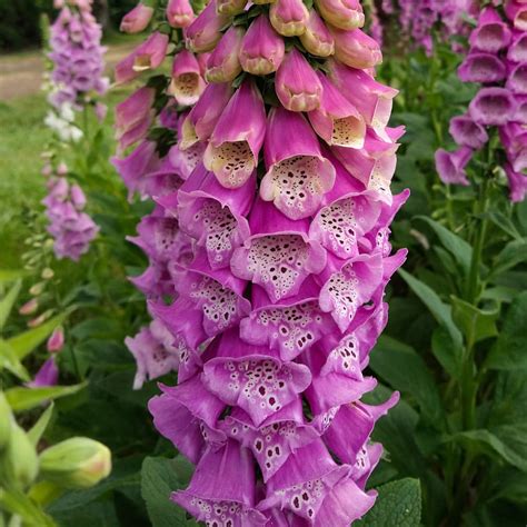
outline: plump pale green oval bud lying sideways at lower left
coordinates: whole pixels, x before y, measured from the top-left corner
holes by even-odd
[[[66,488],[88,488],[111,470],[111,453],[99,441],[72,437],[40,455],[42,479]]]

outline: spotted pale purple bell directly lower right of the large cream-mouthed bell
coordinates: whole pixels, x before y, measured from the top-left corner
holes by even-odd
[[[338,258],[354,258],[359,253],[359,239],[374,229],[380,211],[380,203],[367,196],[342,197],[320,209],[309,238]]]

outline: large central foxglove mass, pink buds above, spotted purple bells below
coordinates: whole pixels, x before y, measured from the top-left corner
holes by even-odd
[[[140,31],[160,10],[140,4]],[[348,527],[375,501],[375,421],[360,401],[406,251],[389,226],[395,89],[358,0],[170,0],[116,68],[171,60],[117,107],[113,163],[155,201],[130,240],[153,321],[127,339],[136,387],[178,370],[149,405],[197,465],[172,500],[211,527]],[[185,42],[185,47],[182,43]]]

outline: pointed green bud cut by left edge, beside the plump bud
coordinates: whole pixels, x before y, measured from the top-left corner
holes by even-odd
[[[0,473],[19,488],[31,485],[39,473],[37,450],[14,419],[11,419],[9,441],[0,455]]]

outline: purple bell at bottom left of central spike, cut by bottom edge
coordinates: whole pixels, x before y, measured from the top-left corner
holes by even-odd
[[[218,468],[221,467],[221,470]],[[233,440],[219,450],[208,449],[186,490],[172,501],[199,521],[232,527],[264,527],[266,517],[255,507],[255,469],[250,451]]]

